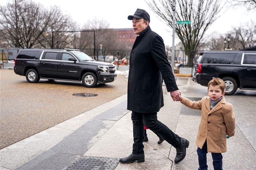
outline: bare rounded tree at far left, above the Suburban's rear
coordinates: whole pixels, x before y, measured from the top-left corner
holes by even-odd
[[[0,7],[0,18],[0,29],[11,47],[31,48],[47,30],[50,15],[39,3],[15,0]]]

